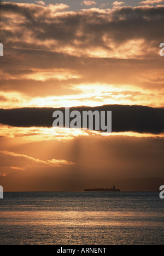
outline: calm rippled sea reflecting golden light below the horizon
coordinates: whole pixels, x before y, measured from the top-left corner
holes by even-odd
[[[4,192],[0,244],[164,244],[158,192]]]

